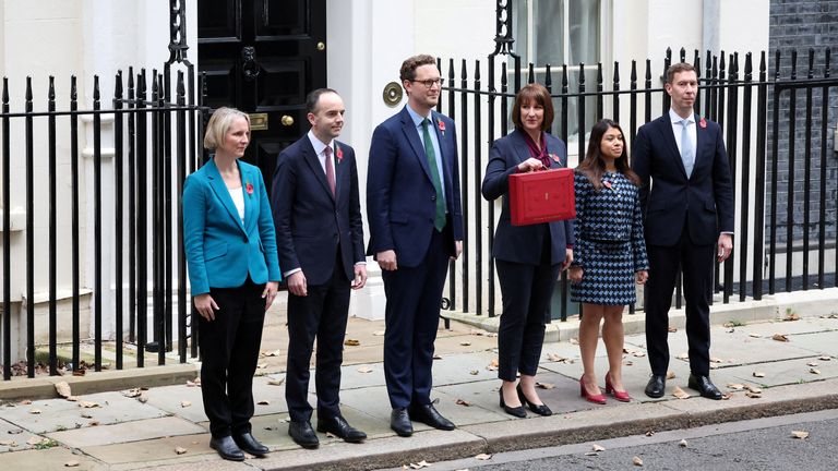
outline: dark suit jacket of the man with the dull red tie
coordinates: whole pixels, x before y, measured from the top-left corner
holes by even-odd
[[[283,274],[302,268],[314,286],[332,277],[338,246],[348,280],[355,277],[354,265],[364,261],[355,150],[338,141],[333,150],[336,196],[308,135],[279,154],[274,172],[271,204],[279,267]]]

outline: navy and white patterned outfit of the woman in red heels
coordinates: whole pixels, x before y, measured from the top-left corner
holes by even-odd
[[[624,305],[636,301],[634,274],[649,269],[637,186],[620,172],[604,172],[596,191],[574,172],[576,224],[573,266],[582,282],[571,283],[571,300]]]

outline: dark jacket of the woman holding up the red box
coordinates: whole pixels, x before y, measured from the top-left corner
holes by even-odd
[[[551,168],[567,167],[567,147],[552,134],[544,135],[547,152],[559,161],[551,159]],[[481,192],[483,197],[493,201],[503,196],[503,209],[494,233],[492,256],[506,262],[538,265],[539,250],[543,246],[541,225],[512,226],[510,216],[510,176],[517,172],[518,164],[529,158],[529,147],[522,131],[515,130],[505,137],[496,140],[489,152],[489,164]],[[567,245],[572,245],[573,221],[553,221],[550,225],[551,257],[550,264],[564,262]]]

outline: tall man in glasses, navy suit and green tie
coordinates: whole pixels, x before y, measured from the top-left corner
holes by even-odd
[[[442,78],[427,55],[402,64],[407,106],[375,128],[367,179],[369,254],[382,269],[386,331],[384,375],[391,428],[411,420],[453,430],[431,403],[433,342],[448,258],[462,251],[457,136],[454,121],[433,111]]]

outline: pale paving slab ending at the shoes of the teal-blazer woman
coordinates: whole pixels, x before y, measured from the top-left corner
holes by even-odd
[[[55,432],[47,434],[47,437],[72,448],[83,448],[204,432],[203,427],[190,421],[168,416]]]

